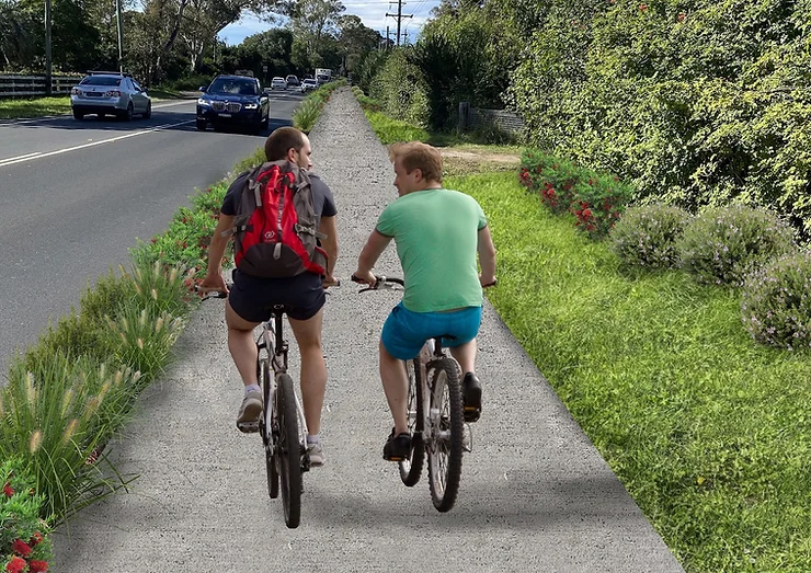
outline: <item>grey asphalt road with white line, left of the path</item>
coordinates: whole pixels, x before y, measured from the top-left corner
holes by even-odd
[[[270,130],[301,100],[271,94]],[[0,123],[0,383],[11,356],[78,308],[88,282],[129,264],[195,188],[221,179],[267,133],[197,131],[194,100],[149,121],[70,116]]]

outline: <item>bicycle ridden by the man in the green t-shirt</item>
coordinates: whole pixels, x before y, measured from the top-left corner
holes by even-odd
[[[353,276],[354,282],[358,282]],[[377,277],[373,286],[359,290],[397,289],[404,282],[393,277]],[[465,422],[459,365],[446,354],[437,333],[425,342],[420,354],[406,360],[409,378],[408,423],[411,452],[398,461],[400,479],[408,486],[416,485],[425,457],[429,460],[429,489],[434,507],[448,512],[456,503],[461,481],[461,458],[472,451],[472,432]]]

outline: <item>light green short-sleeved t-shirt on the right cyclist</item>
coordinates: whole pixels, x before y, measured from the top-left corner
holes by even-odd
[[[397,244],[407,309],[436,312],[481,306],[476,253],[479,230],[487,224],[476,199],[458,191],[416,191],[386,206],[376,229]]]

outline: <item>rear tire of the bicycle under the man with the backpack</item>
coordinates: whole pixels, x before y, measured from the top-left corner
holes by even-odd
[[[290,529],[298,527],[301,518],[301,451],[298,442],[298,412],[293,392],[293,379],[287,374],[281,375],[276,381],[279,438],[276,460],[282,482],[285,524]]]

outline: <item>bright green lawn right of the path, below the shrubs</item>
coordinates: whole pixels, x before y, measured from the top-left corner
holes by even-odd
[[[624,275],[515,174],[447,186],[488,214],[488,298],[685,569],[811,571],[811,355],[755,344],[736,291]]]

